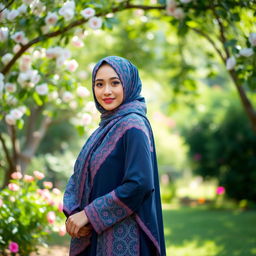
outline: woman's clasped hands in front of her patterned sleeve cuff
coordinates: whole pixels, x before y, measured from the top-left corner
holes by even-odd
[[[85,211],[81,211],[78,213],[75,213],[66,221],[66,230],[72,237],[80,237],[79,230],[84,227],[86,224],[88,224],[88,218],[85,214]]]

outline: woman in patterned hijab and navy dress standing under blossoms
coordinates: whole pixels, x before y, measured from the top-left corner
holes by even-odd
[[[109,56],[93,69],[99,127],[64,194],[70,255],[166,255],[155,144],[137,68]]]

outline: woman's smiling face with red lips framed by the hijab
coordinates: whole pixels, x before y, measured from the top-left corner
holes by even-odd
[[[98,103],[105,110],[117,108],[124,97],[123,86],[115,70],[103,64],[96,73],[94,93]]]

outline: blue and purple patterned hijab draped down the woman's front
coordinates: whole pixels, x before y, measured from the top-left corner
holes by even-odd
[[[146,118],[147,110],[145,99],[140,95],[142,84],[138,69],[130,61],[118,56],[109,56],[101,59],[93,69],[92,87],[94,86],[97,71],[105,63],[109,64],[117,73],[123,86],[124,99],[117,108],[107,111],[96,100],[92,88],[96,107],[101,113],[101,121],[99,127],[89,137],[79,153],[75,162],[74,173],[66,186],[63,210],[66,216],[81,211],[89,204],[89,195],[93,186],[93,177],[89,173],[90,158],[97,146],[100,144],[102,146],[103,139],[108,132],[110,130],[113,131],[118,121],[130,113],[137,113]],[[103,145],[103,150],[104,147],[108,147],[107,143],[105,144]]]

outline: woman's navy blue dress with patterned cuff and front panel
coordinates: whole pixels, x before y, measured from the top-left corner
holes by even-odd
[[[92,154],[93,188],[84,210],[93,232],[81,256],[166,255],[153,137],[142,117],[129,116],[136,125],[122,122],[118,138],[115,132],[105,138],[107,152],[99,145]]]

